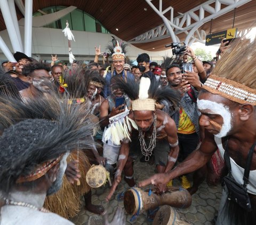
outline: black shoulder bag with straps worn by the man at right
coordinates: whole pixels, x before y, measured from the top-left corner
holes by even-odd
[[[250,148],[250,151],[248,153],[246,168],[244,170],[244,177],[243,177],[244,184],[243,185],[237,184],[237,182],[235,181],[235,179],[233,178],[233,176],[231,174],[231,164],[230,164],[230,158],[228,155],[228,147],[226,147],[226,150],[224,153],[224,158],[225,158],[225,162],[227,164],[228,170],[229,170],[229,174],[223,178],[222,185],[226,186],[226,189],[228,191],[228,200],[237,203],[239,206],[241,206],[247,212],[252,211],[250,197],[247,193],[246,186],[249,183],[248,178],[249,178],[250,167],[251,167],[251,162],[252,162],[252,154],[253,154],[255,145],[256,145],[256,143],[254,143],[252,145],[252,147]]]

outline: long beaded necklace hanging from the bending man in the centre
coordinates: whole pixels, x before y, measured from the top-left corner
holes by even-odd
[[[142,130],[139,128],[139,140],[140,140],[140,147],[142,155],[145,155],[145,161],[149,161],[149,157],[152,155],[153,149],[156,146],[156,114],[154,115],[153,120],[153,132],[150,136],[149,146],[147,147],[145,142],[145,132],[143,133]]]

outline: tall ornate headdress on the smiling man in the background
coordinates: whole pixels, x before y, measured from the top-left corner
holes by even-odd
[[[110,45],[107,46],[108,50],[111,53],[112,56],[112,60],[124,60],[125,59],[125,54],[126,54],[126,46],[127,44],[125,44],[122,40],[120,41],[120,43],[118,42],[118,40],[114,37],[111,36],[112,39],[112,43]]]

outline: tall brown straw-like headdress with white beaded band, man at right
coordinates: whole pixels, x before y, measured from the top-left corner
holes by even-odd
[[[242,38],[233,41],[207,78],[203,89],[239,104],[256,105],[255,54],[256,40],[251,43]]]

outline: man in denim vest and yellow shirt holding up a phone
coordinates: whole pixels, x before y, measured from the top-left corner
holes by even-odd
[[[179,110],[173,111],[171,107],[166,106],[163,111],[167,112],[175,121],[180,154],[179,161],[182,162],[193,152],[199,143],[199,111],[197,109],[196,99],[201,90],[202,84],[199,76],[195,72],[184,71],[182,74],[178,64],[172,64],[166,68],[166,77],[169,86],[179,89],[182,93]],[[171,182],[170,182],[171,184]],[[181,177],[183,188],[189,188],[190,183],[186,176]]]

